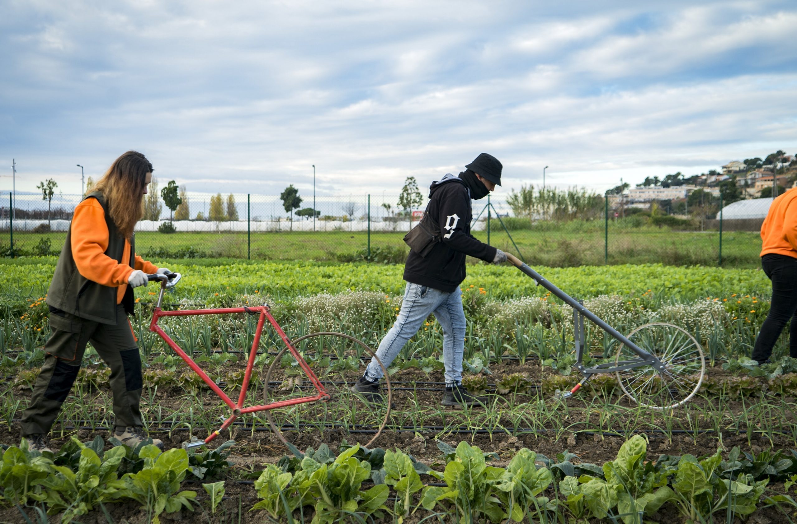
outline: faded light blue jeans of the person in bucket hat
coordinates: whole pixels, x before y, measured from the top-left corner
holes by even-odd
[[[446,293],[432,287],[407,283],[396,323],[379,343],[376,356],[386,368],[390,366],[404,344],[418,333],[426,318],[432,313],[443,328],[446,387],[453,387],[462,381],[462,355],[465,353],[465,311],[462,310],[462,294],[459,287]],[[370,381],[378,381],[383,374],[382,367],[371,358],[371,363],[365,370],[365,377]]]

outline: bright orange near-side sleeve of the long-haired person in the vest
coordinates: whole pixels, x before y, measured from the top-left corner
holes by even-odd
[[[75,208],[72,217],[72,257],[80,275],[97,284],[118,287],[128,284],[133,268],[105,254],[108,225],[105,212],[96,198],[87,198]]]

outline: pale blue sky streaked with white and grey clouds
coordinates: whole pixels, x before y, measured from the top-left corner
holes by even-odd
[[[0,190],[120,153],[202,192],[398,193],[482,151],[595,190],[797,153],[794,2],[0,3]]]

